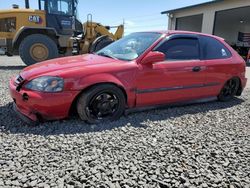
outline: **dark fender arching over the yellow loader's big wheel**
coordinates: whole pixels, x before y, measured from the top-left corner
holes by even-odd
[[[43,34],[50,37],[56,44],[58,44],[58,34],[54,28],[39,28],[39,27],[22,27],[15,35],[12,46],[14,51],[18,51],[21,42],[27,36],[32,34]]]

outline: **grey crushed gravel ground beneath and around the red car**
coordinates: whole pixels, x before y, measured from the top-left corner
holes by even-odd
[[[11,110],[0,57],[0,187],[250,187],[250,90],[228,103],[138,112],[86,125],[37,127]]]

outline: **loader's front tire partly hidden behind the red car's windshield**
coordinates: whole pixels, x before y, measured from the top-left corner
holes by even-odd
[[[112,42],[114,42],[114,40],[111,39],[110,37],[100,36],[96,40],[94,40],[94,42],[92,43],[91,48],[90,48],[90,53],[97,52],[103,49],[104,47],[108,46]]]

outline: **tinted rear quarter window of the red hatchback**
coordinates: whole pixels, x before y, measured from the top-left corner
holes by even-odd
[[[220,41],[206,36],[201,36],[202,53],[206,60],[226,59],[232,56],[227,47]]]

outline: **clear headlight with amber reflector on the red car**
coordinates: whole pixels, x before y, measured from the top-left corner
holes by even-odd
[[[60,92],[63,86],[64,81],[60,77],[42,76],[28,82],[25,88],[42,92]]]

